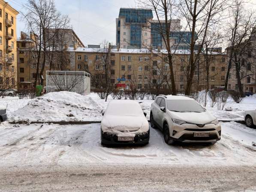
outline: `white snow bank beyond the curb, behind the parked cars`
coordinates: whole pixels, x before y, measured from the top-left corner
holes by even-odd
[[[6,96],[0,98],[0,105],[8,104],[9,121],[27,119],[29,121],[99,121],[102,119],[101,110],[105,110],[111,100],[111,96],[109,96],[105,102],[104,99],[99,99],[96,93],[90,93],[90,96],[81,96],[76,93],[58,92],[48,93],[33,100]],[[147,113],[149,120],[153,100],[135,101],[141,102],[140,105]],[[65,103],[70,103],[70,105]],[[217,110],[217,105],[211,108],[208,100],[207,110],[218,120],[244,120],[245,110],[256,109],[256,94],[245,97],[239,104],[229,97],[225,108],[227,107],[232,107],[233,111]],[[40,114],[41,112],[42,114]]]

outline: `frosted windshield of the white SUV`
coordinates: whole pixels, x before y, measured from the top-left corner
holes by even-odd
[[[194,100],[167,100],[167,109],[169,111],[176,112],[204,112],[204,108],[201,107]]]

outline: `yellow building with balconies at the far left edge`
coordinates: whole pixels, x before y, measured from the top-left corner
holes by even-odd
[[[18,11],[0,0],[0,88],[17,88],[16,16]]]

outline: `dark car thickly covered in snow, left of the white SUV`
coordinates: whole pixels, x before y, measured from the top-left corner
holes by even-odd
[[[148,144],[149,123],[139,103],[113,100],[101,121],[102,144]]]

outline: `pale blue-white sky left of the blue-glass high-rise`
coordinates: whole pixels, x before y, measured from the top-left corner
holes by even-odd
[[[18,11],[26,11],[22,4],[27,0],[6,0]],[[115,41],[115,18],[120,7],[134,7],[134,0],[55,0],[56,8],[69,15],[73,30],[85,44],[100,44],[103,40]],[[25,30],[21,14],[17,18],[17,37]]]

